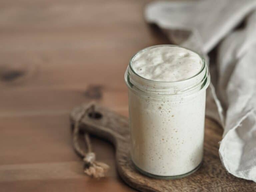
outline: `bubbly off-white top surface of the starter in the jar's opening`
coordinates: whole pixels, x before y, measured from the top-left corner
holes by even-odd
[[[149,80],[174,82],[189,79],[200,72],[201,57],[188,49],[158,46],[139,52],[132,60],[133,70]]]

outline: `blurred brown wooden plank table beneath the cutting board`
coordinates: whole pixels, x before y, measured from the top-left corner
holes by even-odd
[[[94,138],[108,178],[83,174],[69,112],[96,100],[128,115],[124,72],[138,50],[166,43],[139,0],[0,1],[0,192],[133,191],[114,150]]]

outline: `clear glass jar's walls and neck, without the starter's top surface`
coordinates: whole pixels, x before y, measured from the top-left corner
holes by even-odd
[[[159,82],[135,73],[132,63],[137,54],[125,72],[132,162],[154,178],[185,177],[195,172],[203,159],[205,98],[210,82],[207,65],[201,58],[203,66],[195,76]]]

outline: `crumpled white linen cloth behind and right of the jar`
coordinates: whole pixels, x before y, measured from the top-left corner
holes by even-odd
[[[213,77],[217,73],[217,82],[211,84],[206,115],[223,126],[219,154],[224,167],[256,182],[254,10],[256,0],[155,1],[146,6],[145,19],[157,24],[172,42],[205,57],[218,44],[217,70],[210,70]],[[235,30],[244,19],[245,27]]]

